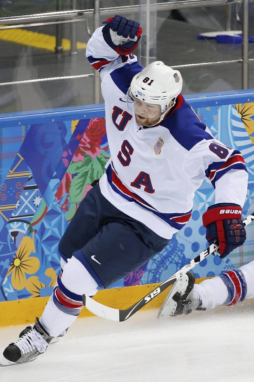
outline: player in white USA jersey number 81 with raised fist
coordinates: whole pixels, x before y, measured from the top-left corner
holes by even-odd
[[[243,244],[241,220],[248,173],[239,151],[214,139],[180,94],[182,76],[156,61],[143,67],[133,50],[142,29],[122,16],[108,19],[87,44],[101,75],[111,159],[59,243],[62,270],[42,317],[3,352],[3,364],[42,354],[95,295],[159,253],[191,216],[204,178],[215,188],[205,213],[220,256]],[[25,330],[27,331],[27,330]]]

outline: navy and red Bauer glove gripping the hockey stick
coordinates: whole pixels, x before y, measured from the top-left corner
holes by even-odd
[[[241,216],[241,207],[233,203],[214,204],[203,214],[206,240],[209,245],[215,240],[219,241],[219,255],[222,259],[246,240]]]

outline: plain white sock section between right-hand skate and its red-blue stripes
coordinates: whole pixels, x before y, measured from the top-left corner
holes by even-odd
[[[227,286],[219,276],[195,284],[194,290],[201,298],[201,308],[214,308],[222,305],[228,297]]]

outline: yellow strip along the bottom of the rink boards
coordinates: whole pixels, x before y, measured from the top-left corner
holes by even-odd
[[[211,277],[208,277],[211,278]],[[206,280],[205,278],[196,279],[196,283]],[[151,290],[154,290],[160,285],[146,284],[137,286],[126,286],[124,288],[113,288],[99,290],[94,299],[101,304],[110,306],[115,309],[126,309],[132,306],[135,302],[148,295]],[[160,308],[170,287],[160,293],[156,298],[151,300],[143,309]],[[40,317],[48,302],[49,297],[25,298],[15,301],[0,302],[0,327],[9,325],[27,325],[35,322],[35,317]],[[90,317],[93,314],[86,308],[83,308],[79,317]],[[131,319],[131,318],[130,318]]]

